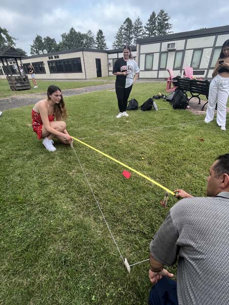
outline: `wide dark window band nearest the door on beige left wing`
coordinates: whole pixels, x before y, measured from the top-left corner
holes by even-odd
[[[58,55],[56,55],[58,56]],[[75,73],[82,72],[81,59],[78,58],[69,58],[69,59],[60,59],[52,60],[48,62],[48,68],[50,73]]]

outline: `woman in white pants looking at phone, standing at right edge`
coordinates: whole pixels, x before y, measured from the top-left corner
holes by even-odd
[[[216,121],[221,130],[226,130],[226,102],[229,95],[229,39],[222,45],[212,77],[205,123],[213,120],[217,102]]]

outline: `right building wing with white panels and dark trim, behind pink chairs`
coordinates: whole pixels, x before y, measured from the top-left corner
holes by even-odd
[[[155,36],[137,40],[139,78],[165,79],[167,68],[183,75],[185,67],[193,75],[212,78],[222,44],[229,39],[229,26]]]

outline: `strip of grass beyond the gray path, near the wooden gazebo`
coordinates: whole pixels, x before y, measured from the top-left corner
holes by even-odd
[[[30,90],[19,90],[13,91],[10,89],[7,79],[0,79],[0,99],[11,97],[11,96],[18,96],[18,95],[27,95],[27,94],[34,94],[34,93],[46,93],[47,87],[51,84],[59,86],[62,90],[64,89],[76,89],[88,86],[95,86],[95,85],[103,85],[107,83],[113,82],[113,77],[104,78],[104,81],[99,81],[98,79],[93,79],[91,81],[53,81],[53,80],[40,80],[37,79],[38,88],[34,89],[34,85],[32,80],[30,79],[31,89]]]

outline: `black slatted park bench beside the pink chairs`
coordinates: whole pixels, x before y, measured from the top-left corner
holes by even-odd
[[[191,78],[183,78],[183,77],[176,77],[178,89],[182,90],[184,94],[187,96],[186,92],[190,92],[191,97],[188,99],[188,102],[192,98],[197,98],[199,100],[198,104],[201,104],[201,99],[199,95],[206,96],[208,100],[209,95],[209,85],[210,82],[208,80],[198,80],[198,79],[191,79]],[[205,105],[208,101],[204,104],[201,110],[204,110]]]

